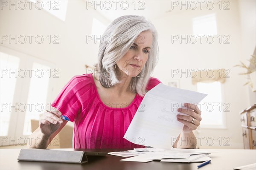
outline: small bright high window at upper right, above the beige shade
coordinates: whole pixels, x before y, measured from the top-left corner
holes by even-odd
[[[217,35],[215,14],[193,18],[193,34],[195,36]]]

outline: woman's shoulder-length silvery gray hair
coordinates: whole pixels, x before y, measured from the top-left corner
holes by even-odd
[[[98,53],[98,63],[94,66],[99,71],[99,82],[105,88],[119,83],[115,64],[133,45],[135,39],[143,31],[151,31],[153,35],[151,50],[143,70],[138,76],[132,77],[130,91],[145,96],[148,80],[157,65],[159,49],[157,31],[154,25],[143,16],[125,15],[118,17],[106,28],[101,38]],[[124,42],[125,39],[125,42]]]

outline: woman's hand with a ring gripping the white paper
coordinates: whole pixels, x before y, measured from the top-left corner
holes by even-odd
[[[191,103],[185,103],[184,106],[186,108],[178,108],[178,112],[186,115],[177,114],[177,120],[184,124],[182,131],[189,133],[192,130],[196,130],[200,125],[200,121],[202,120],[201,111],[197,105]]]

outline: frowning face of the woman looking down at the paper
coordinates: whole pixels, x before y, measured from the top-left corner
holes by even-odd
[[[127,53],[116,62],[123,76],[126,77],[127,74],[128,76],[136,77],[142,71],[148,60],[148,52],[151,50],[152,39],[151,31],[141,32]]]

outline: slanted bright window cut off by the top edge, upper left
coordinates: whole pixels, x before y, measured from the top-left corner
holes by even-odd
[[[35,8],[44,9],[60,20],[65,21],[67,13],[67,0],[36,0]]]

